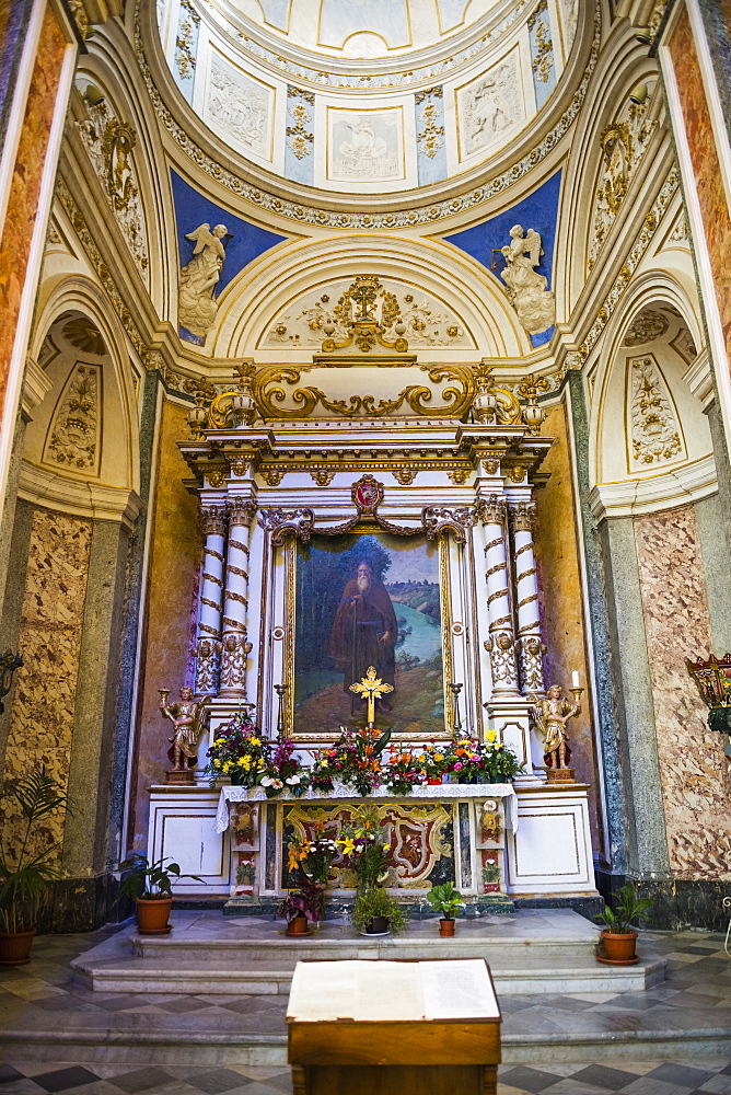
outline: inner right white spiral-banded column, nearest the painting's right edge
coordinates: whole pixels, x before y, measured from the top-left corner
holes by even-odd
[[[489,637],[485,645],[490,656],[494,698],[519,694],[508,580],[506,510],[506,499],[500,495],[492,494],[479,504],[479,517],[485,537],[485,578],[489,621]]]

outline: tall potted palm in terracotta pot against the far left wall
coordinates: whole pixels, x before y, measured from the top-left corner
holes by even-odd
[[[38,822],[70,814],[70,808],[66,792],[45,769],[9,780],[0,800],[7,804],[0,840],[0,963],[15,965],[28,961],[40,901],[48,884],[61,877],[53,863],[61,842],[38,850],[48,835],[47,828],[38,831]]]

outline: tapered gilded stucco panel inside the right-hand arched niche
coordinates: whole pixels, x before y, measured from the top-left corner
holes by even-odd
[[[630,420],[630,471],[655,466],[685,454],[677,414],[657,361],[651,354],[631,358],[628,415]]]

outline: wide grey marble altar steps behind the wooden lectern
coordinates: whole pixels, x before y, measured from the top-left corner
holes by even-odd
[[[189,914],[188,914],[189,915]],[[344,921],[326,921],[306,938],[289,938],[281,922],[251,918],[183,920],[167,936],[130,929],[88,950],[71,965],[97,992],[289,994],[301,959],[486,958],[499,994],[638,992],[664,979],[664,960],[611,967],[595,960],[597,929],[571,910],[517,913],[506,923],[460,921],[453,940],[438,921],[399,935],[353,935]],[[177,921],[177,923],[176,923]]]

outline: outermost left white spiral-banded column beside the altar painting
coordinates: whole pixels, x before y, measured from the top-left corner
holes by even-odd
[[[221,655],[225,510],[222,506],[202,506],[200,520],[206,537],[206,546],[204,548],[204,569],[200,576],[200,611],[196,643],[196,693],[213,695],[218,690]]]

